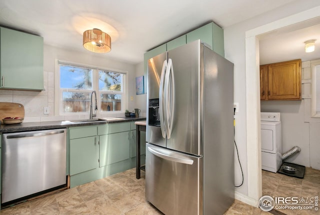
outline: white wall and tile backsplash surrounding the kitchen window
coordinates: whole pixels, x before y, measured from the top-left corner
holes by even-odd
[[[28,121],[48,121],[48,120],[64,120],[75,118],[88,118],[87,115],[81,116],[58,116],[54,115],[54,71],[55,59],[78,62],[82,64],[96,65],[103,68],[119,69],[127,71],[127,105],[126,109],[130,111],[135,108],[135,99],[130,100],[130,96],[135,96],[135,66],[130,63],[122,62],[108,58],[107,54],[90,53],[83,54],[72,50],[44,45],[43,47],[43,91],[25,91],[25,90],[5,90],[0,89],[1,102],[17,102],[21,103],[25,109],[24,122]],[[49,114],[43,114],[43,107],[49,107]],[[97,113],[98,114],[98,113]],[[99,116],[99,115],[97,115]],[[103,115],[103,116],[108,116]],[[117,116],[124,116],[121,113]]]

